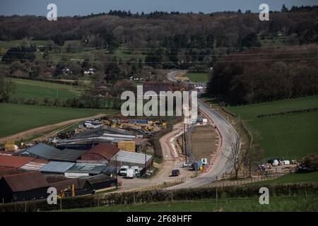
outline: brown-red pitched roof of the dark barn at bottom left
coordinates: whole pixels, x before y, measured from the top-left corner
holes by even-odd
[[[5,175],[2,177],[13,192],[30,191],[48,187],[49,184],[40,172]]]

